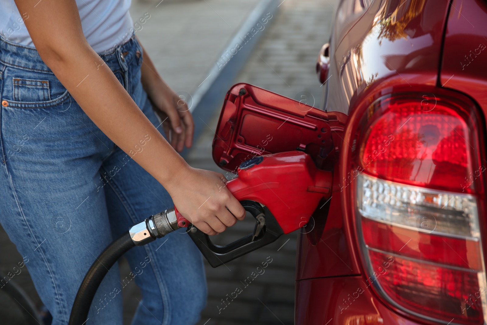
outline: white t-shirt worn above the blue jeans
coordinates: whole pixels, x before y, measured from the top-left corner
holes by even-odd
[[[133,32],[129,8],[131,0],[76,0],[81,26],[88,43],[98,54],[127,42]],[[41,6],[39,1],[37,5]],[[0,0],[0,36],[10,42],[34,47],[14,0]],[[56,12],[51,19],[62,19]]]

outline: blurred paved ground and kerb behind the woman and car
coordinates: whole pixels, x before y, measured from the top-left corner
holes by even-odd
[[[195,168],[223,172],[211,158],[225,94],[237,82],[247,82],[321,108],[323,87],[315,64],[321,46],[329,41],[338,0],[132,0],[134,30],[164,80],[185,99],[196,123],[195,144],[183,153]],[[262,24],[262,18],[267,22]],[[260,22],[261,26],[256,26]],[[258,29],[233,57],[240,37]],[[224,172],[225,173],[225,172]],[[154,211],[158,212],[158,211]],[[218,236],[230,243],[253,230],[247,219]],[[206,263],[208,302],[199,325],[293,324],[294,281],[298,232],[240,257],[225,266]],[[6,274],[22,257],[0,228],[0,272]],[[241,281],[270,257],[272,262],[225,309],[222,299],[242,287]],[[120,262],[121,276],[130,269]],[[27,268],[15,283],[40,308]],[[37,324],[24,317],[14,299],[0,289],[1,324]],[[129,325],[140,299],[131,282],[122,291],[124,325]]]

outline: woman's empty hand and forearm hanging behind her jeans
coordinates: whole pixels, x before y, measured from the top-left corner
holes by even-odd
[[[152,108],[163,121],[164,132],[172,148],[182,152],[185,145],[189,148],[193,142],[193,117],[186,102],[164,82],[147,52],[143,52],[142,86],[149,96]]]

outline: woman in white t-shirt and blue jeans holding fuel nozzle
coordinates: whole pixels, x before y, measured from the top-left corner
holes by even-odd
[[[173,205],[210,235],[244,218],[222,174],[193,169],[176,152],[191,146],[192,117],[131,35],[129,7],[0,2],[0,221],[53,325],[67,324],[95,256],[132,224]],[[198,321],[206,283],[186,234],[126,255],[132,273],[120,281],[110,270],[87,324],[122,324],[121,292],[132,280],[142,290],[133,324]]]

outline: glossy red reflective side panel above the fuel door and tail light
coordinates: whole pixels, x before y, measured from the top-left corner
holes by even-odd
[[[354,1],[340,7],[349,2]],[[392,76],[405,84],[435,85],[447,11],[444,0],[375,0],[345,35],[338,23],[325,109],[350,114],[367,88]],[[341,19],[347,17],[337,15]]]

